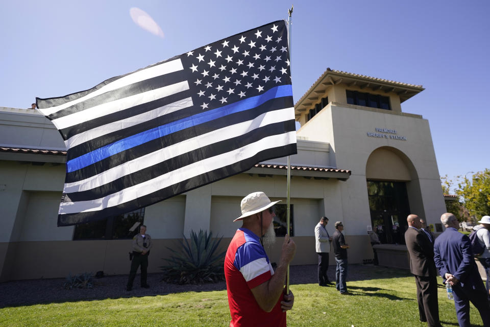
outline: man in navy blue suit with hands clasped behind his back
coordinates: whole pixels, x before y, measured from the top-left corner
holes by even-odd
[[[470,302],[480,312],[484,327],[490,327],[490,306],[473,258],[470,238],[458,232],[453,214],[440,216],[446,230],[435,239],[434,261],[444,282],[453,288],[454,306],[461,327],[470,327]]]

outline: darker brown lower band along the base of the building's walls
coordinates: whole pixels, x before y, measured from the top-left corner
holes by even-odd
[[[291,265],[317,263],[315,241],[311,236],[293,238],[297,244],[295,259]],[[360,263],[372,259],[371,245],[367,236],[347,236],[350,245],[349,262]],[[222,247],[226,248],[231,238],[223,238]],[[269,259],[279,262],[283,238],[277,238],[276,244],[268,250]],[[0,243],[0,252],[7,243]],[[105,274],[127,274],[130,269],[128,252],[131,240],[113,241],[31,241],[13,242],[16,255],[9,263],[10,273],[2,276],[2,282],[8,280],[59,278],[69,273],[78,274],[103,270]],[[167,264],[163,258],[171,255],[169,248],[178,249],[179,239],[155,239],[149,257],[148,271],[161,271],[160,266]],[[330,264],[334,265],[333,252]],[[314,269],[314,268],[313,268]]]

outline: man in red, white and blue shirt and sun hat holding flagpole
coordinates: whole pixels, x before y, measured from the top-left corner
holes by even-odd
[[[285,294],[287,267],[295,256],[296,244],[286,235],[276,271],[265,254],[264,244],[274,243],[273,206],[263,192],[241,200],[241,220],[225,256],[225,277],[231,327],[286,326],[286,311],[294,303],[292,292]]]

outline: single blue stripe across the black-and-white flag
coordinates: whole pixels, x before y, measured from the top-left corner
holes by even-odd
[[[88,152],[84,155],[81,155],[77,158],[67,161],[66,172],[70,173],[82,169],[84,167],[90,166],[95,162],[101,161],[114,154],[139,146],[143,143],[152,141],[152,139],[160,138],[162,136],[175,133],[195,125],[203,124],[235,112],[249,110],[275,98],[290,97],[290,96],[292,96],[292,88],[290,84],[273,87],[267,90],[266,92],[264,92],[264,94],[260,96],[247,98],[242,101],[238,101],[223,107],[198,113],[189,116],[187,118],[163,126],[159,126],[126,137],[124,139],[120,139],[119,141],[116,141],[112,144]]]

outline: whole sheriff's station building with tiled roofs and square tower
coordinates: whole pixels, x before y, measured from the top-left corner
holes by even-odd
[[[330,219],[330,234],[335,221],[344,223],[350,263],[373,258],[368,231],[374,227],[392,258],[399,251],[399,261],[405,261],[409,213],[442,231],[438,217],[446,207],[429,122],[401,108],[423,90],[327,69],[298,101],[301,128],[290,189],[298,248],[292,265],[317,262],[314,226],[321,216]],[[255,191],[283,200],[274,226],[278,236],[285,233],[286,158],[132,213],[57,227],[65,158],[60,134],[39,112],[0,107],[0,282],[99,270],[127,274],[135,223],[148,226],[154,240],[149,271],[158,272],[170,255],[167,247],[176,248],[190,230],[223,236],[226,247],[240,227],[233,219],[241,198]],[[281,243],[279,238],[270,255],[273,262]]]

